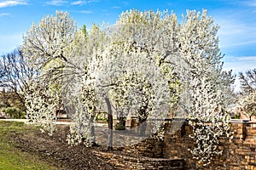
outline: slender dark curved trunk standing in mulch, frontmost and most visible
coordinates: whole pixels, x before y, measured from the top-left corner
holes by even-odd
[[[108,106],[108,150],[113,150],[113,115],[109,99],[105,101]]]

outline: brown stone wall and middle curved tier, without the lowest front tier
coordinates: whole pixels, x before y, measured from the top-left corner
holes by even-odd
[[[207,167],[196,164],[189,149],[194,148],[189,138],[192,127],[188,122],[172,121],[166,123],[164,141],[145,139],[138,144],[125,147],[125,152],[136,156],[162,157],[185,161],[185,169],[251,169],[256,170],[256,122],[230,122],[233,138],[221,138],[218,145],[223,150],[221,156],[212,159]]]

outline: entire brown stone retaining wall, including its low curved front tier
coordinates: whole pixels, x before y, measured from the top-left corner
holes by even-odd
[[[196,164],[189,149],[194,148],[189,138],[192,127],[188,122],[166,123],[164,141],[143,139],[137,144],[125,146],[123,152],[99,152],[96,155],[120,169],[250,169],[256,170],[256,122],[230,122],[233,138],[221,138],[218,145],[221,156],[212,159],[207,167]]]

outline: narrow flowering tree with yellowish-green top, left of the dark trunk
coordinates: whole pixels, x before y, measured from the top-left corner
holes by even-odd
[[[76,42],[73,44],[78,50],[74,54],[77,57],[71,60],[79,70],[70,75],[71,81],[65,92],[65,103],[72,105],[69,111],[75,122],[68,136],[70,144],[96,144],[94,121],[99,105],[96,98],[95,72],[100,67],[102,48],[104,42],[107,42],[105,38],[99,27],[94,25],[89,32],[85,28],[78,31]]]

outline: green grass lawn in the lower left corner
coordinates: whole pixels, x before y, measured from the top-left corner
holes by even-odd
[[[0,169],[57,169],[39,156],[29,154],[15,147],[9,135],[29,132],[23,122],[4,122],[0,120]]]

